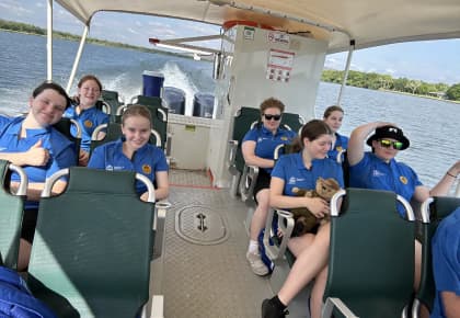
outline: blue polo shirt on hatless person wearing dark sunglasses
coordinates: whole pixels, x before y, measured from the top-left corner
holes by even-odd
[[[278,145],[289,145],[296,138],[297,134],[292,130],[278,127],[275,135],[272,134],[264,125],[262,127],[254,127],[249,130],[243,138],[243,141],[255,141],[254,154],[264,159],[274,159],[275,148]],[[272,172],[273,168],[264,168],[266,172]]]

